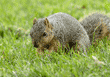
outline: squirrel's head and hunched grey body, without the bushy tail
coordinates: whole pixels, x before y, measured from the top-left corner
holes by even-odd
[[[61,45],[62,49],[74,49],[76,42],[77,48],[85,52],[90,45],[85,29],[66,13],[55,13],[47,18],[34,19],[30,36],[38,52],[44,52],[45,49],[57,52]]]

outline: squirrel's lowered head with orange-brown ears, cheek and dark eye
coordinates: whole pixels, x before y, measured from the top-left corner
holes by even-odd
[[[47,18],[38,20],[35,18],[33,20],[33,27],[30,31],[34,47],[46,47],[54,37],[52,29],[53,27]]]

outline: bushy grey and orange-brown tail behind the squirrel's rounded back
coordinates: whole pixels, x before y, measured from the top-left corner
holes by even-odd
[[[106,15],[93,13],[92,15],[89,15],[88,17],[80,21],[80,24],[87,31],[91,44],[93,40],[94,44],[97,39],[101,40],[105,36],[108,36],[108,38],[110,38],[110,17],[107,17]]]

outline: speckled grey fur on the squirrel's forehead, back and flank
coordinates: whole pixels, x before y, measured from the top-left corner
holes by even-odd
[[[63,47],[65,47],[66,43],[72,42],[75,44],[77,41],[79,46],[83,47],[83,50],[86,51],[86,47],[90,45],[90,40],[85,29],[75,18],[66,13],[55,13],[48,16],[47,19],[53,26],[54,37],[60,41]],[[45,30],[44,20],[45,18],[38,19],[30,33],[43,33]]]

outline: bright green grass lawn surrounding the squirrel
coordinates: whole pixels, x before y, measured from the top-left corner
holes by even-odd
[[[65,12],[79,20],[93,12],[109,14],[109,4],[109,0],[1,0],[0,77],[109,77],[110,41],[106,38],[91,45],[87,55],[64,55],[59,50],[60,54],[38,56],[29,36],[35,17]]]

